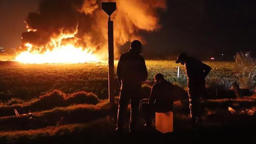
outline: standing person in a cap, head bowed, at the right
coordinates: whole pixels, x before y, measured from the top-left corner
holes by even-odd
[[[194,124],[196,122],[202,122],[202,107],[200,99],[204,97],[205,77],[211,71],[211,67],[196,58],[188,57],[186,53],[181,53],[178,56],[176,63],[185,65],[186,68],[191,120]]]

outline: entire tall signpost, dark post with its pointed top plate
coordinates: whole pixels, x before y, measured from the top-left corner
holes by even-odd
[[[110,104],[115,104],[114,89],[114,27],[110,16],[116,10],[116,3],[102,2],[102,10],[108,14],[108,99]]]

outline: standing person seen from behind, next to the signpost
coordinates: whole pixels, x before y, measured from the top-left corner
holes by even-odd
[[[121,85],[119,95],[119,106],[117,112],[116,131],[124,129],[124,116],[129,102],[131,102],[130,132],[133,132],[139,112],[141,85],[148,77],[145,60],[140,55],[142,44],[134,40],[129,52],[120,56],[117,65],[117,78]]]

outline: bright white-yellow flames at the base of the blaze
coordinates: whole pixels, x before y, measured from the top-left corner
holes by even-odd
[[[37,47],[33,44],[26,43],[24,46],[27,51],[21,52],[15,61],[29,64],[42,64],[42,63],[84,63],[87,61],[98,61],[93,48],[82,46],[75,46],[76,39],[63,44],[63,40],[74,38],[75,34],[61,34],[57,38],[52,38],[51,42],[44,47]],[[50,47],[50,48],[47,48]]]

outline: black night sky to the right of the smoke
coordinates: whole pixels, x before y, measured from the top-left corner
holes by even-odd
[[[255,55],[255,0],[167,1],[168,10],[161,15],[162,29],[144,34],[150,49],[147,52],[187,52],[201,59],[221,53],[232,59],[237,51],[252,51]]]

